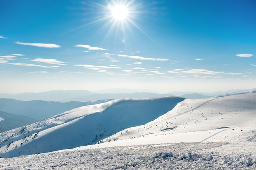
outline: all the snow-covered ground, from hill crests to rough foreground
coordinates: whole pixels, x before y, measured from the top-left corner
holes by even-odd
[[[255,92],[177,99],[113,100],[1,133],[1,142],[9,139],[0,145],[0,157],[7,157],[0,169],[256,169]],[[79,144],[101,134],[99,128],[109,135],[94,140],[98,144]],[[20,137],[11,137],[15,132]],[[23,133],[28,142],[15,148],[24,142]]]

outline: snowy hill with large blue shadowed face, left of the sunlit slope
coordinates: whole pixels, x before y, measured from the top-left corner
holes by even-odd
[[[164,115],[184,98],[120,99],[66,111],[0,134],[0,157],[15,157],[94,144],[125,128]]]

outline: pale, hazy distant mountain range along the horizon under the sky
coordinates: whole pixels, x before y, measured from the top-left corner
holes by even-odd
[[[21,94],[0,94],[0,98],[11,98],[16,100],[47,100],[58,102],[70,101],[94,101],[104,99],[119,99],[119,98],[148,98],[157,96],[182,96],[185,98],[209,98],[223,94],[235,94],[240,92],[248,92],[256,89],[233,89],[223,92],[214,93],[195,93],[195,92],[169,92],[159,94],[156,92],[143,92],[142,90],[129,89],[106,89],[98,92],[90,92],[88,90],[53,90],[40,93],[21,93]]]

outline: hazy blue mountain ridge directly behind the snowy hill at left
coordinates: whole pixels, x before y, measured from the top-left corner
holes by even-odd
[[[0,98],[0,111],[34,119],[34,122],[49,118],[77,107],[95,105],[109,100],[95,100],[87,102],[56,102],[45,100],[21,101],[9,98]]]

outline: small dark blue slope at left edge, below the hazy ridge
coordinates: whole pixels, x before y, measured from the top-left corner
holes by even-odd
[[[0,111],[0,133],[34,122],[36,122],[36,120],[25,116],[13,115]]]

